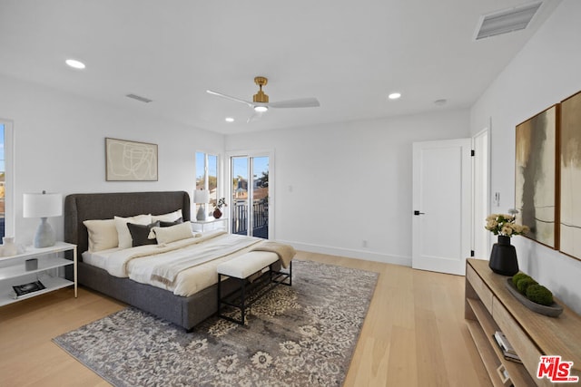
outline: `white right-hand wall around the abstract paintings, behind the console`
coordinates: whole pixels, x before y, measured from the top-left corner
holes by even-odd
[[[515,127],[581,90],[581,2],[565,0],[473,106],[470,130],[491,121],[491,191],[500,207],[515,203]],[[501,37],[498,37],[501,38]],[[513,238],[521,270],[581,313],[581,261],[523,237]]]

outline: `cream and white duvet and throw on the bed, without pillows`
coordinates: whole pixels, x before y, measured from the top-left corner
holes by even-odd
[[[165,245],[111,248],[96,253],[84,252],[83,261],[106,270],[112,276],[129,277],[142,284],[167,289],[174,295],[188,296],[218,282],[216,266],[234,256],[251,251],[264,241],[261,238],[244,237],[248,240],[248,244],[245,245],[239,243],[240,239],[240,236],[214,231],[205,233],[201,237],[182,239]],[[233,244],[236,244],[236,247],[222,249],[222,252],[227,252],[222,256],[220,249],[224,245],[233,246]],[[236,251],[232,252],[233,249]],[[153,276],[154,272],[159,272],[159,265],[164,262],[179,261],[183,256],[199,255],[200,252],[209,250],[215,250],[217,257],[208,257],[203,263],[182,269],[177,272],[172,282],[162,281],[157,276]],[[276,253],[267,251],[254,251],[252,254],[278,258]]]

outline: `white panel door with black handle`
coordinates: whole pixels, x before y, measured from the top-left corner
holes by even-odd
[[[413,268],[464,275],[470,255],[471,140],[413,144]]]

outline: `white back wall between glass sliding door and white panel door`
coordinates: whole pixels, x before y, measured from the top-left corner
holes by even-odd
[[[411,144],[466,138],[468,125],[468,110],[341,122],[228,135],[226,150],[274,150],[277,239],[410,266]]]

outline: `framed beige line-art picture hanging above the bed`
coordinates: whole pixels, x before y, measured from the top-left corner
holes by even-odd
[[[105,138],[107,181],[157,181],[157,144]]]

